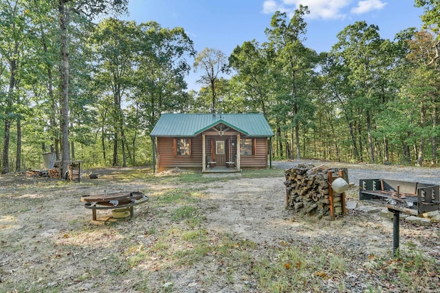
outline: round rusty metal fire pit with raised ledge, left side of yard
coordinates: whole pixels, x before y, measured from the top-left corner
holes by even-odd
[[[148,201],[148,196],[142,192],[109,192],[104,194],[89,194],[82,196],[81,201],[85,202],[84,207],[91,209],[93,220],[96,221],[97,209],[127,209],[130,211],[130,218],[135,215],[134,207]]]

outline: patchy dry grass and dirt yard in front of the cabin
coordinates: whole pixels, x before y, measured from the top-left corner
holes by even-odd
[[[292,218],[283,207],[282,170],[217,180],[150,171],[96,170],[98,180],[81,183],[1,176],[0,292],[438,288],[437,226],[404,224],[401,257],[395,259],[390,226],[376,216],[351,213],[331,223],[305,215]],[[272,190],[256,189],[273,180],[279,191],[273,184]],[[150,200],[135,208],[133,219],[115,220],[111,211],[98,211],[98,221],[91,221],[80,196],[104,190],[139,190]],[[234,216],[241,217],[239,223]],[[243,227],[235,224],[247,226],[237,233]]]

